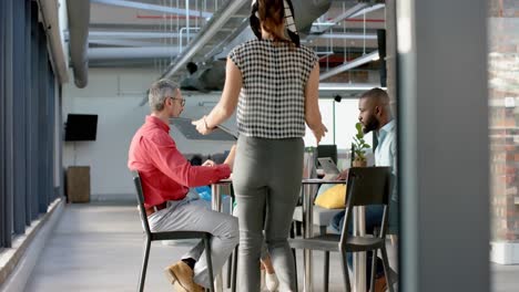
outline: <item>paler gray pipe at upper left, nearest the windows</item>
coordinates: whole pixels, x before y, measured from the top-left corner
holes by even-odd
[[[50,59],[54,73],[61,84],[69,82],[68,63],[60,35],[60,21],[58,17],[58,1],[39,0],[41,18],[50,46]]]

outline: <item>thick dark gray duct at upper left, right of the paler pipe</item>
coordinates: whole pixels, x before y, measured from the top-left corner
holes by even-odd
[[[74,72],[74,83],[79,88],[83,88],[88,83],[86,59],[89,23],[90,23],[90,1],[68,0],[69,31],[70,31],[70,59]]]

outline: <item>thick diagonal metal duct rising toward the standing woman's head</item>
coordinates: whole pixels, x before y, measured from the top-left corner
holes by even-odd
[[[207,43],[216,32],[238,11],[248,0],[227,0],[214,17],[199,32],[199,35],[190,44],[190,48],[182,52],[161,75],[161,79],[173,76],[180,69],[191,61],[191,58]]]

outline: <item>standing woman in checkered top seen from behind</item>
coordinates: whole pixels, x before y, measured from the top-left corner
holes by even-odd
[[[237,106],[233,185],[240,206],[237,270],[243,291],[260,291],[263,229],[279,291],[295,291],[287,237],[301,189],[305,122],[317,143],[327,132],[317,102],[318,59],[299,45],[293,13],[289,0],[253,0],[250,21],[257,40],[228,54],[218,104],[193,122],[201,134],[208,134]]]

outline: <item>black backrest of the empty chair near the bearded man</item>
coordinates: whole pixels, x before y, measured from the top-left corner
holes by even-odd
[[[346,213],[340,244],[344,244],[348,228],[352,226],[353,208],[357,206],[383,205],[384,215],[380,221],[380,237],[386,236],[387,212],[391,190],[390,167],[352,167],[348,171],[346,188]]]

